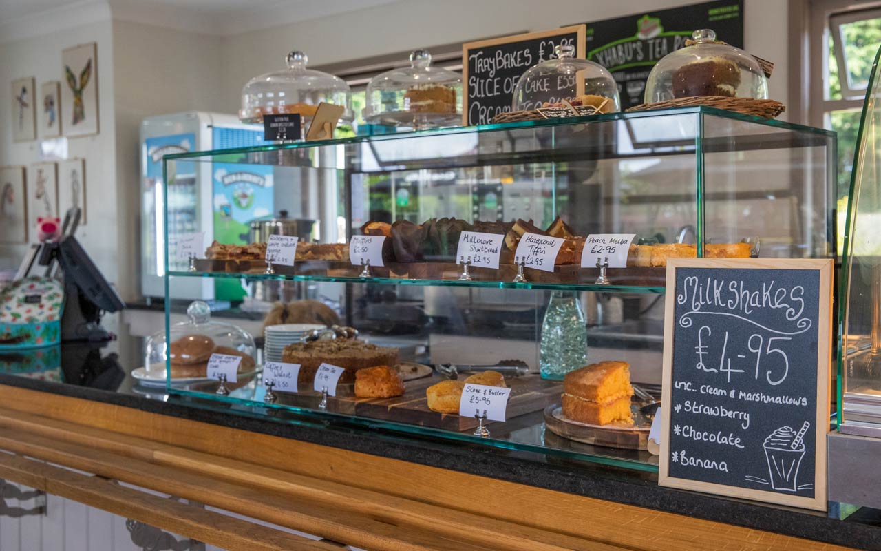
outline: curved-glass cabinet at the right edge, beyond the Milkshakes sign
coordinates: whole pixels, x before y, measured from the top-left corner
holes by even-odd
[[[881,56],[881,51],[879,51]],[[854,156],[841,269],[838,391],[841,432],[881,437],[881,173],[877,62]]]

